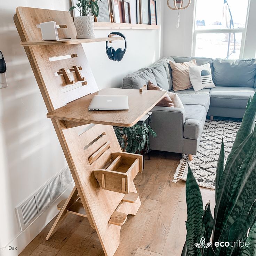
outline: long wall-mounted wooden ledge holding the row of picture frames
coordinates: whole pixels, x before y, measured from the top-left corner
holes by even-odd
[[[159,25],[95,22],[94,29],[159,29]]]

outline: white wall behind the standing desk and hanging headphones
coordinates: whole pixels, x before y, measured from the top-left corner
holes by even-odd
[[[158,2],[158,10],[162,10],[164,4]],[[0,205],[3,206],[0,211],[0,255],[7,255],[6,252],[1,254],[1,249],[3,251],[21,233],[15,207],[66,166],[54,128],[46,118],[47,110],[29,61],[19,44],[13,22],[17,6],[68,10],[70,4],[69,0],[0,3],[0,50],[7,63],[8,80],[8,88],[0,90]],[[160,11],[158,13],[161,23],[163,17]],[[105,37],[109,32],[97,30],[95,34]],[[148,66],[162,55],[161,30],[120,32],[128,40],[126,55],[120,63],[107,58],[103,42],[84,46],[99,89],[121,86],[126,74]],[[119,45],[123,47],[121,42],[115,43],[114,47]],[[28,242],[24,240],[20,246],[24,247]]]

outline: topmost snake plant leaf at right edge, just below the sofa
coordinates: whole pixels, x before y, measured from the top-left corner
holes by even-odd
[[[254,94],[252,99],[249,98],[241,126],[237,132],[237,136],[235,137],[235,141],[233,143],[233,146],[227,158],[227,161],[229,161],[232,154],[235,152],[238,146],[245,140],[245,138],[249,136],[249,134],[251,134],[253,127],[255,125],[255,119],[256,119],[256,94]]]

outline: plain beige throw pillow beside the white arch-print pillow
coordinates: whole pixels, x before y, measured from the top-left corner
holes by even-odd
[[[171,66],[171,75],[173,77],[173,90],[186,90],[192,88],[189,79],[189,67],[196,66],[197,62],[192,59],[189,62],[176,63],[169,61]]]

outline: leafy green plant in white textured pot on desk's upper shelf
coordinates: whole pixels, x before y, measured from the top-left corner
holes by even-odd
[[[77,8],[80,13],[80,16],[74,17],[77,38],[95,38],[94,16],[98,17],[99,15],[99,6],[97,2],[98,0],[78,0],[78,3],[76,4],[77,6],[72,6],[69,9],[69,11],[72,11]]]

